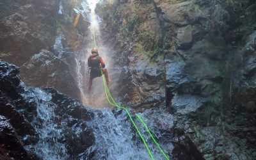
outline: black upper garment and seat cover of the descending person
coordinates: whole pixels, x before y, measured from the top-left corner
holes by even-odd
[[[88,58],[88,67],[92,67],[91,73],[90,73],[90,79],[94,79],[95,77],[102,76],[99,54],[94,53],[92,54],[92,56]]]

